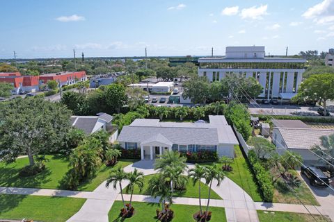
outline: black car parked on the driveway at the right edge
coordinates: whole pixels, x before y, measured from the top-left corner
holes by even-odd
[[[301,166],[301,174],[310,180],[312,187],[328,187],[329,185],[328,177],[317,167]]]

